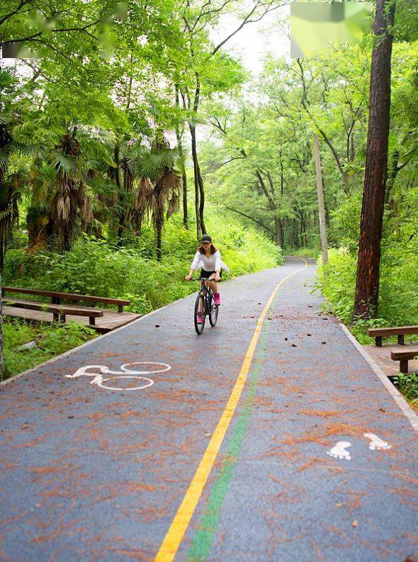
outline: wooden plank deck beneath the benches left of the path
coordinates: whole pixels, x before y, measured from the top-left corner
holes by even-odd
[[[68,308],[68,305],[65,305]],[[77,307],[82,308],[82,307]],[[86,307],[87,308],[87,307]],[[97,309],[103,310],[103,317],[96,318],[96,324],[91,326],[96,332],[100,334],[106,334],[106,332],[111,332],[120,326],[125,326],[133,320],[136,320],[141,315],[135,313],[118,313],[116,310],[105,310],[104,308]],[[47,313],[39,310],[28,310],[25,308],[16,308],[14,306],[4,306],[3,314],[5,316],[23,318],[28,322],[47,322],[50,324],[52,322],[52,313]],[[85,326],[89,326],[89,317],[86,316],[73,316],[67,315],[67,322],[79,322]]]

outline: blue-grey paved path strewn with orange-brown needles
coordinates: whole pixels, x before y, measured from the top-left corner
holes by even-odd
[[[189,296],[1,386],[0,559],[152,560],[261,310],[301,265],[293,259],[222,283],[219,325],[200,337]],[[416,434],[335,320],[319,313],[314,274],[312,265],[297,271],[277,293],[176,560],[392,561],[418,553]],[[64,376],[135,361],[171,370],[130,391]],[[390,449],[369,449],[364,433]],[[327,455],[341,441],[351,444],[350,460]]]

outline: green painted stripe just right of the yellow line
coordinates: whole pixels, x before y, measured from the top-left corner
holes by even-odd
[[[269,314],[275,307],[276,299],[273,301],[271,308],[269,309]],[[226,459],[222,463],[220,474],[213,484],[208,505],[205,507],[205,511],[200,519],[198,530],[193,536],[190,548],[188,549],[186,562],[204,562],[209,556],[210,547],[212,546],[213,539],[215,538],[215,532],[218,527],[220,510],[225,500],[227,489],[230,485],[235,464],[237,463],[244,434],[247,432],[249,415],[252,410],[254,395],[256,393],[256,384],[259,381],[260,376],[261,362],[264,359],[268,332],[269,326],[268,324],[264,324],[261,337],[259,339],[259,349],[256,360],[254,361],[254,367],[252,368],[252,377],[249,381],[249,389],[244,398],[242,410],[239,413],[237,422],[235,423],[235,427],[232,431],[230,444],[226,451]]]

